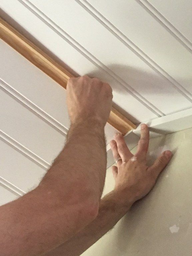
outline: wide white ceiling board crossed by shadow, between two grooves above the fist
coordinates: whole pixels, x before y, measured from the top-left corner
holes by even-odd
[[[161,115],[192,106],[191,102],[173,88],[171,82],[157,74],[76,1],[31,0],[31,2],[88,52],[121,77],[126,87],[131,86],[146,99],[146,102],[148,101],[149,106],[160,110],[156,109]],[[175,101],[175,98],[178,98],[180,104]],[[163,104],[167,101],[169,104]]]

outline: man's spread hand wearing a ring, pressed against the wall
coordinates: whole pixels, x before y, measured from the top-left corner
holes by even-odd
[[[117,162],[117,167],[112,167],[115,190],[120,193],[122,203],[129,206],[149,193],[157,177],[170,161],[172,153],[168,150],[163,152],[152,166],[147,166],[149,129],[146,124],[141,125],[141,139],[135,155],[129,151],[121,134],[116,134],[115,140],[110,144],[114,159],[122,159]]]

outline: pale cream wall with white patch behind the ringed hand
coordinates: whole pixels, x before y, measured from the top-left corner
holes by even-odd
[[[170,164],[152,192],[136,203],[113,230],[82,256],[191,255],[191,141],[192,129],[150,140],[149,153],[153,155],[158,155],[161,150],[173,151]],[[136,148],[132,150],[135,151]],[[108,169],[104,194],[112,190],[113,185],[112,173]],[[179,227],[177,233],[171,233],[171,230],[175,230],[174,225],[176,229]]]

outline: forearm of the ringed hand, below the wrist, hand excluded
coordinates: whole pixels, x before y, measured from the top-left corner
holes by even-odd
[[[115,190],[106,195],[100,202],[97,218],[69,241],[50,251],[45,256],[79,256],[91,245],[111,230],[126,214],[131,203],[120,203]]]

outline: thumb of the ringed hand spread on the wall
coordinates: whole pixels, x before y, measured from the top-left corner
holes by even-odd
[[[173,154],[171,151],[164,151],[154,162],[154,164],[149,168],[150,171],[155,172],[157,176],[163,171],[166,165],[171,160]]]

